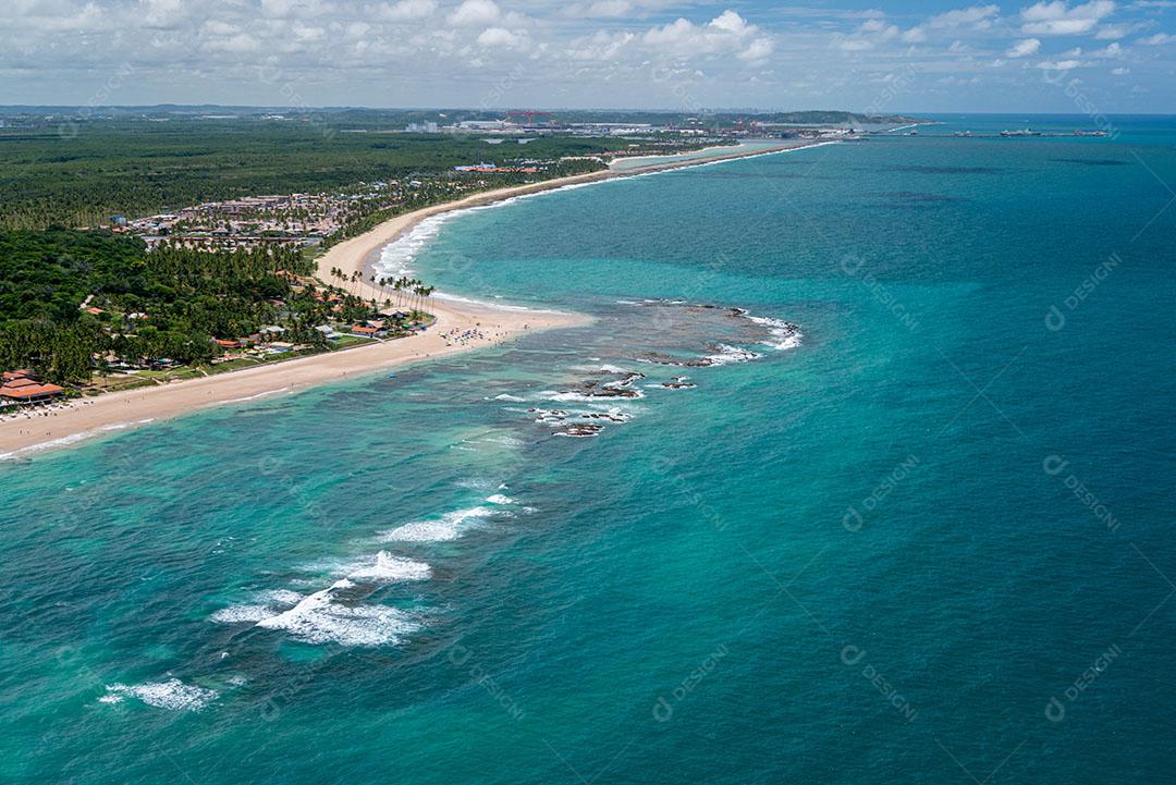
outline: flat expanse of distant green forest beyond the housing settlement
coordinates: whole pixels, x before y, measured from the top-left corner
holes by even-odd
[[[488,145],[472,136],[348,133],[312,122],[106,121],[0,128],[0,228],[105,223],[258,194],[320,193],[400,177],[452,177],[453,167],[555,159],[623,140],[540,137]],[[501,184],[520,177],[495,175]]]

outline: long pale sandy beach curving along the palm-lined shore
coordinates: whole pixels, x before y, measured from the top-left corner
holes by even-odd
[[[385,221],[370,232],[343,241],[319,259],[319,277],[330,281],[329,270],[345,274],[370,274],[373,256],[389,242],[422,220],[450,210],[553,190],[575,183],[628,177],[714,161],[764,155],[783,149],[807,147],[814,142],[781,142],[779,148],[715,148],[714,155],[664,160],[647,167],[624,170],[593,172],[526,186],[482,192],[453,202],[406,213]],[[385,294],[365,283],[362,296],[382,301]],[[176,417],[207,407],[240,402],[267,395],[286,395],[313,385],[339,382],[365,373],[377,371],[407,362],[440,357],[477,347],[509,341],[530,330],[572,327],[588,320],[576,314],[546,310],[516,310],[492,304],[446,302],[432,297],[426,309],[436,322],[423,334],[394,338],[342,351],[300,357],[269,365],[242,369],[206,378],[174,382],[153,388],[112,392],[68,404],[33,408],[0,422],[0,457],[32,455],[45,449],[73,444],[83,438]],[[454,341],[449,336],[473,331],[470,337]]]

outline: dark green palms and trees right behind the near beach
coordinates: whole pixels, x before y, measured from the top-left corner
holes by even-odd
[[[95,358],[206,362],[213,337],[270,323],[287,326],[289,341],[321,344],[313,328],[327,304],[295,291],[283,270],[310,263],[288,248],[148,253],[106,232],[0,232],[0,367],[69,382],[88,378]]]

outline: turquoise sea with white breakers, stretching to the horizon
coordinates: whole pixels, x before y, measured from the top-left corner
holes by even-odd
[[[4,464],[0,781],[1167,779],[1176,121],[1116,122],[473,210],[421,277],[596,322]]]

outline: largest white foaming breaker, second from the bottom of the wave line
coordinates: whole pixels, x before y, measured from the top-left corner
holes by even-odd
[[[312,644],[338,643],[345,646],[381,646],[399,644],[401,636],[421,629],[403,611],[382,605],[347,606],[334,602],[334,595],[355,584],[346,578],[316,591],[290,610],[258,623],[268,630],[285,630]]]

